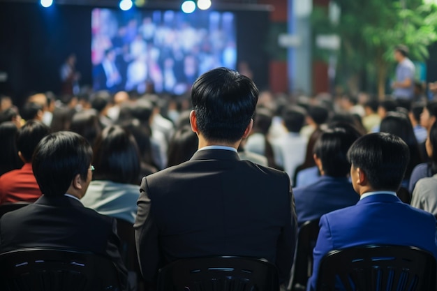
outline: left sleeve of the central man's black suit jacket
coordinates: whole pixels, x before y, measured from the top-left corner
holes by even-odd
[[[158,227],[155,223],[148,190],[147,180],[144,177],[141,182],[137,217],[133,227],[141,274],[147,283],[153,284],[156,282],[161,262],[161,251],[158,245]]]

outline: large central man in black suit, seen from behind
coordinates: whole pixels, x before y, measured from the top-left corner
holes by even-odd
[[[199,147],[190,161],[142,179],[135,239],[145,281],[179,258],[242,255],[290,274],[296,240],[295,207],[285,172],[240,161],[258,89],[244,75],[216,68],[191,91],[191,129]]]

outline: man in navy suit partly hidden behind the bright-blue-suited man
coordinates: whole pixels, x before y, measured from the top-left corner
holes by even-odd
[[[355,205],[360,200],[348,176],[349,147],[360,133],[349,125],[334,125],[325,130],[314,145],[314,161],[321,177],[313,184],[293,189],[297,223],[313,221],[323,214]]]

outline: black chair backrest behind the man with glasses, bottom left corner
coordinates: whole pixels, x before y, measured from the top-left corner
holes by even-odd
[[[57,248],[22,248],[0,254],[2,291],[118,291],[109,258]]]

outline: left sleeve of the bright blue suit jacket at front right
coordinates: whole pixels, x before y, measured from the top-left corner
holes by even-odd
[[[320,227],[320,231],[318,233],[316,246],[314,247],[313,250],[313,273],[309,278],[308,284],[306,285],[307,291],[316,290],[318,267],[320,264],[320,260],[322,260],[325,254],[327,254],[329,251],[332,251],[334,249],[331,229],[329,227],[329,222],[325,215],[323,215],[320,218],[319,227]]]

